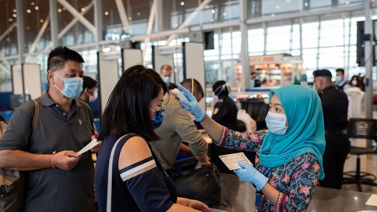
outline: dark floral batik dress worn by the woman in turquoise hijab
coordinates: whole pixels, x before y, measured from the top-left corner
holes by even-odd
[[[235,132],[223,127],[220,141],[216,142],[216,145],[256,152],[256,169],[261,172],[263,167],[259,161],[259,152],[266,133],[266,131]],[[259,211],[304,212],[313,197],[320,171],[319,162],[311,153],[297,156],[283,165],[272,168],[268,175],[269,184],[280,194],[275,203],[270,202],[263,195]]]

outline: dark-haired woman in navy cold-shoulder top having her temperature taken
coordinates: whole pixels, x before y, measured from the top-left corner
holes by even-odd
[[[127,69],[112,90],[98,137],[103,141],[95,174],[100,212],[210,211],[199,201],[177,197],[151,150],[149,142],[159,139],[154,129],[163,121],[166,90],[159,74],[142,65]]]

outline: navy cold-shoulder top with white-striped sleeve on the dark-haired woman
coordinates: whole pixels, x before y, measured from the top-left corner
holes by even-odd
[[[150,144],[152,157],[138,161],[119,170],[118,161],[123,145],[133,136],[130,134],[118,143],[112,167],[112,212],[165,212],[177,202],[173,181],[163,170]],[[113,134],[102,142],[95,170],[95,190],[99,211],[106,212],[108,191],[108,164],[111,149],[119,139]]]

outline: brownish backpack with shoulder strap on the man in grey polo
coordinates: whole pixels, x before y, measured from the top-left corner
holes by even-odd
[[[39,104],[34,101],[34,116],[32,120],[32,130],[34,131],[39,117]],[[2,136],[6,125],[0,126]],[[9,169],[0,168],[0,212],[19,212],[25,201],[24,173]]]

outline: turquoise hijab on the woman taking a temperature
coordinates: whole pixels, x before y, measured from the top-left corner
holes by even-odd
[[[259,154],[265,167],[285,164],[305,153],[312,153],[321,165],[325,147],[323,111],[316,90],[301,85],[285,85],[269,92],[269,102],[275,94],[287,116],[288,129],[283,135],[266,134]]]

